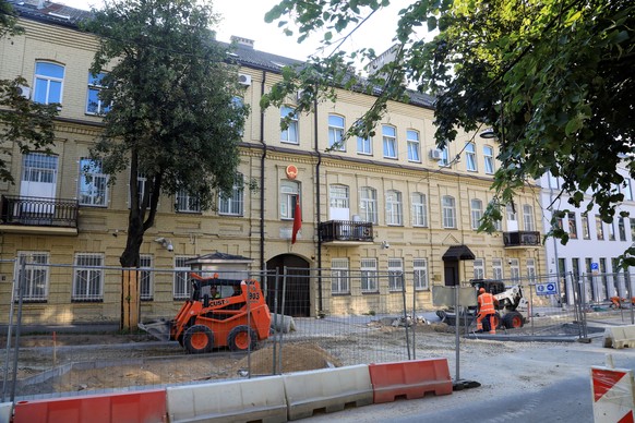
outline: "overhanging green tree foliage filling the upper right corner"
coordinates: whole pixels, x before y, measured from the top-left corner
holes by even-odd
[[[305,75],[319,74],[321,81],[352,89],[363,87],[364,81],[346,75],[346,67],[373,59],[374,51],[344,52],[337,43],[388,3],[280,1],[267,13],[269,22],[278,21],[289,35],[297,28],[299,41],[320,33],[334,52],[287,71],[262,106],[278,101],[286,88],[308,83],[313,89],[309,93],[315,92],[316,78]],[[588,209],[597,205],[602,219],[612,221],[623,200],[618,165],[625,162],[635,177],[632,0],[418,0],[399,16],[396,60],[381,72],[383,78],[366,82],[383,87],[383,94],[367,113],[366,125],[355,130],[372,129],[387,99],[403,95],[398,87],[407,81],[436,98],[439,146],[452,142],[458,128],[493,129],[502,166],[481,229],[493,230],[492,219],[501,218],[501,207],[527,181],[547,171],[563,179],[562,192],[571,195],[573,206],[590,193]],[[422,41],[420,27],[436,35]],[[324,74],[333,70],[337,76]],[[310,100],[300,109],[308,109]],[[562,231],[551,234],[566,242]],[[635,250],[630,253],[635,255]]]

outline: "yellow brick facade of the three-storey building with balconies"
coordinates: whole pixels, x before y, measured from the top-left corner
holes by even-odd
[[[97,40],[79,32],[72,19],[60,22],[57,15],[68,9],[51,16],[46,9],[19,8],[25,34],[0,40],[0,78],[24,76],[32,100],[41,100],[46,84],[44,95],[51,102],[58,96],[62,105],[52,155],[22,156],[15,146],[1,146],[15,178],[15,184],[0,185],[2,322],[10,314],[11,281],[21,256],[32,266],[41,265],[26,277],[26,323],[119,318],[117,267],[125,245],[129,176],[119,174],[116,184],[107,185],[108,177],[95,168],[91,172],[97,186],[86,183],[88,149],[103,129],[91,102],[99,87],[88,75]],[[432,309],[434,285],[546,271],[539,192],[534,186],[507,208],[500,232],[476,230],[493,194],[499,148],[494,140],[462,133],[445,150],[436,149],[432,99],[417,95],[410,104],[391,102],[372,138],[347,140],[342,149],[326,153],[330,141],[374,98],[342,90],[337,102],[320,104],[283,131],[280,117],[288,110],[261,111],[259,102],[279,81],[281,65],[292,61],[257,51],[250,40],[237,40],[237,77],[252,108],[239,172],[257,189],[237,185],[233,196],[219,200],[214,210],[199,210],[187,195],[160,201],[156,225],[145,233],[141,249],[147,270],[142,319],[171,317],[188,297],[188,261],[214,253],[250,258],[254,273],[283,271],[286,266],[321,275],[290,286],[289,314],[297,316],[394,312],[386,300],[403,292],[390,277],[343,275],[403,273],[408,298],[418,309]],[[289,98],[287,107],[293,106]],[[297,202],[302,222],[291,243]],[[457,245],[467,246],[475,259],[444,259]]]

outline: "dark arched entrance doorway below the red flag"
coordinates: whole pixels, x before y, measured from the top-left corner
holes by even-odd
[[[287,278],[284,279],[285,266],[287,267]],[[267,305],[272,312],[284,312],[285,315],[293,317],[311,316],[311,275],[309,263],[296,255],[281,254],[267,262],[267,270],[278,270],[277,304],[275,278],[267,279]],[[283,282],[285,283],[283,298]],[[283,310],[284,299],[284,310]],[[277,305],[277,309],[276,309]]]

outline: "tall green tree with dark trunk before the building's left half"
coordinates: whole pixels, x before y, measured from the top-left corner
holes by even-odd
[[[248,108],[237,69],[211,31],[217,16],[194,0],[115,0],[94,11],[86,29],[100,37],[92,72],[105,73],[111,105],[92,158],[113,183],[130,172],[128,240],[120,263],[139,265],[143,234],[159,195],[185,190],[203,209],[230,192]],[[145,178],[143,198],[137,174]]]

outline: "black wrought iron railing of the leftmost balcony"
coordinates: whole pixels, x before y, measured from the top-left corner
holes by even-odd
[[[76,200],[2,195],[2,225],[76,228],[80,206]]]

